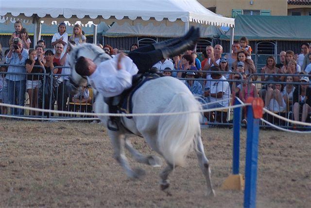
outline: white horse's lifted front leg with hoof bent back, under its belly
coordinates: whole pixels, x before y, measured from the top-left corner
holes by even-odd
[[[130,151],[130,153],[133,155],[133,157],[138,163],[147,164],[153,167],[160,167],[162,165],[160,157],[155,155],[144,156],[143,154],[135,150],[131,142],[126,138],[125,138],[125,147],[128,151]]]

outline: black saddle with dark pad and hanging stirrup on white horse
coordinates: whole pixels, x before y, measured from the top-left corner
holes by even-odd
[[[109,106],[109,113],[132,113],[132,97],[134,93],[147,81],[159,78],[161,76],[163,75],[158,72],[134,75],[132,78],[131,88],[125,90],[121,95],[114,97],[104,97],[104,102]],[[132,116],[126,117],[129,119],[133,118]],[[118,116],[110,116],[107,127],[111,131],[119,131],[119,123],[120,118]]]

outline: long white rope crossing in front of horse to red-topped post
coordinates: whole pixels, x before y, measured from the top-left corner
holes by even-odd
[[[39,111],[39,112],[45,112],[45,113],[63,113],[63,114],[70,114],[70,115],[88,115],[88,116],[119,116],[119,117],[121,116],[160,116],[160,115],[179,115],[179,114],[187,114],[187,113],[204,113],[204,112],[222,111],[225,109],[240,108],[240,107],[247,106],[247,105],[250,105],[250,104],[247,103],[247,104],[233,105],[233,106],[228,106],[228,107],[205,109],[202,111],[185,111],[185,112],[172,112],[172,113],[84,113],[84,112],[38,109],[38,108],[31,108],[31,107],[25,107],[25,106],[0,103],[0,106],[5,106],[9,108],[19,108],[19,109],[30,110],[30,111]]]

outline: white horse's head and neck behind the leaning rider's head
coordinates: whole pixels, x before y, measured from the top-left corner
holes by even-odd
[[[73,46],[69,43],[69,47],[71,49],[69,59],[71,73],[68,88],[71,93],[74,93],[77,92],[79,86],[85,85],[87,83],[86,77],[80,76],[75,70],[76,60],[79,57],[83,56],[91,58],[97,65],[105,60],[110,59],[111,57],[104,53],[104,50],[95,44],[83,43],[78,46]]]

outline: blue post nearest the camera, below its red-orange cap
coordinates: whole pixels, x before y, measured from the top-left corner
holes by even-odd
[[[256,208],[258,137],[259,119],[253,117],[252,106],[247,106],[244,208]]]

